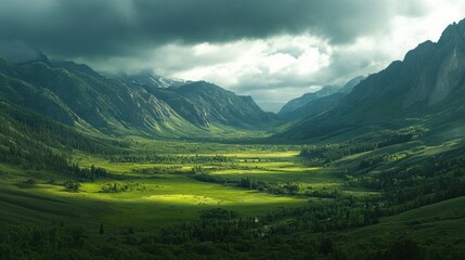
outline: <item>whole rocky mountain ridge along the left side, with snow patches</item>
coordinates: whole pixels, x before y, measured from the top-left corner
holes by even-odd
[[[158,80],[158,81],[157,81]],[[170,83],[159,86],[156,82]],[[112,134],[205,134],[205,127],[257,128],[275,119],[249,96],[206,82],[106,77],[73,62],[0,61],[0,96],[73,127]],[[163,87],[163,88],[160,88]]]

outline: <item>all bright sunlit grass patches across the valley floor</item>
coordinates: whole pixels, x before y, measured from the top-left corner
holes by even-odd
[[[153,144],[152,142],[145,144],[148,145],[148,150],[152,148],[150,146]],[[178,144],[171,142],[168,145],[176,147]],[[341,187],[343,179],[340,176],[334,173],[330,168],[308,166],[303,158],[298,157],[298,151],[271,152],[231,145],[227,146],[224,152],[221,151],[223,153],[202,153],[204,147],[206,146],[201,146],[198,153],[195,154],[179,153],[176,155],[227,156],[230,160],[204,164],[203,167],[209,170],[210,174],[221,176],[232,181],[251,177],[257,181],[270,183],[301,182],[307,187],[312,188]],[[172,155],[172,153],[160,155]],[[111,162],[106,158],[82,153],[74,154],[73,160],[78,162],[80,167],[94,165],[105,168],[117,178],[82,182],[80,191],[72,193],[65,191],[64,186],[61,185],[69,178],[53,173],[50,176],[55,179],[55,183],[48,183],[49,173],[47,173],[37,176],[38,181],[34,187],[20,188],[14,184],[24,182],[31,173],[21,172],[17,169],[12,170],[8,174],[10,179],[1,179],[2,177],[0,177],[0,184],[20,192],[11,200],[25,202],[24,197],[27,197],[28,194],[35,194],[39,197],[24,204],[24,207],[9,206],[10,213],[0,212],[0,218],[12,219],[29,213],[39,216],[37,221],[65,221],[88,225],[98,225],[99,222],[104,222],[105,225],[109,226],[109,230],[115,229],[115,231],[118,226],[131,225],[142,226],[146,230],[158,230],[173,223],[195,221],[205,209],[221,207],[237,211],[245,217],[251,217],[280,208],[300,207],[312,200],[308,197],[273,195],[234,185],[199,182],[179,173],[156,172],[156,169],[176,166],[177,171],[189,173],[198,164]],[[236,168],[228,169],[231,166]],[[152,169],[154,172],[140,173],[139,170],[141,169]],[[102,186],[106,183],[119,183],[120,185],[138,183],[143,188],[105,193]],[[56,205],[44,199],[48,197],[62,202],[61,209],[67,213],[63,214],[61,211],[53,213]],[[33,205],[37,205],[37,207]]]

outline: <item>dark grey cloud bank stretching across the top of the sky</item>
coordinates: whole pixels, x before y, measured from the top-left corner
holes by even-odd
[[[227,42],[309,31],[347,43],[415,4],[379,0],[4,0],[0,38],[63,57],[135,55],[170,42]]]

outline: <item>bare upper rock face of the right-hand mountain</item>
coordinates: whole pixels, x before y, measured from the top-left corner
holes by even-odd
[[[450,25],[437,43],[426,41],[385,70],[356,87],[345,103],[384,103],[399,99],[392,109],[409,114],[411,107],[434,106],[460,88],[465,75],[465,21]],[[365,104],[360,104],[365,105]]]

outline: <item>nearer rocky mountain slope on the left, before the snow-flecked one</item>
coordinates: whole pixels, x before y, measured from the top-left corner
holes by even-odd
[[[104,132],[130,128],[151,131],[165,122],[181,120],[168,105],[147,94],[143,88],[129,88],[85,65],[43,62],[5,65],[3,74],[10,81],[28,86],[28,89],[13,88],[18,91],[18,96],[30,96],[22,105],[69,126],[83,121]],[[1,89],[5,87],[0,86]],[[47,102],[34,92],[47,93],[52,101]],[[53,108],[57,106],[60,108]],[[64,110],[68,114],[66,120],[56,117]]]

